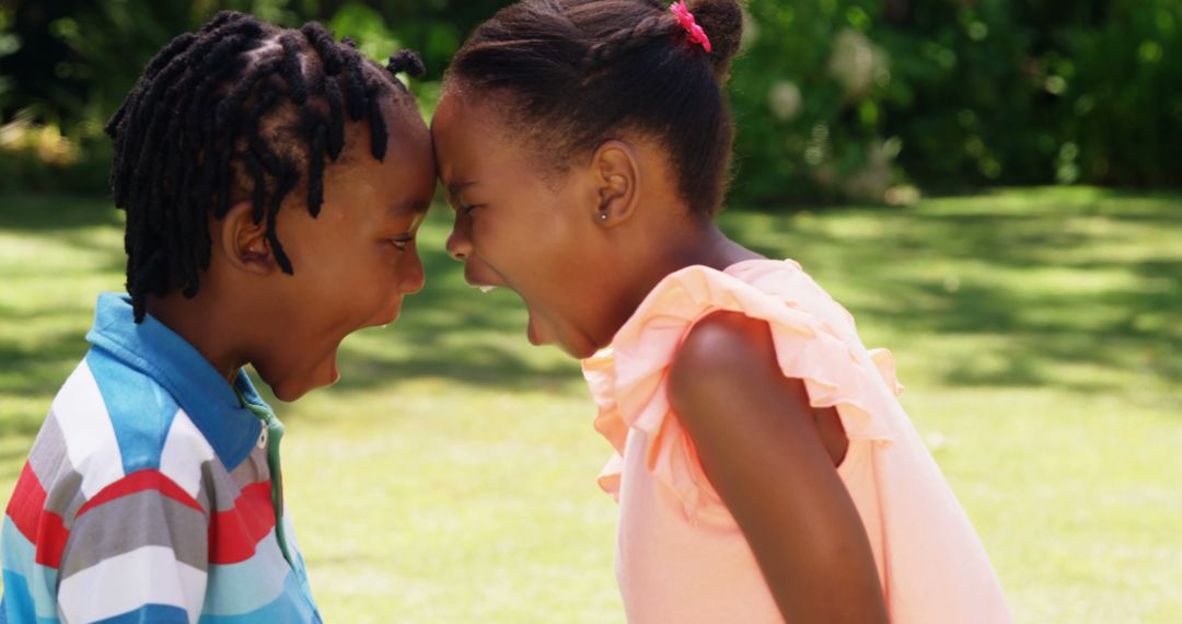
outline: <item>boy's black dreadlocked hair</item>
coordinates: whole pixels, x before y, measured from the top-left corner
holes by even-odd
[[[284,197],[303,189],[319,214],[325,158],[340,157],[346,116],[369,122],[370,152],[385,158],[382,104],[410,102],[398,72],[418,77],[423,64],[402,51],[382,67],[317,22],[284,30],[236,12],[156,54],[106,125],[136,323],[148,297],[197,293],[210,212],[221,219],[239,201],[251,201],[255,223],[266,220],[275,261],[293,273],[275,235]]]

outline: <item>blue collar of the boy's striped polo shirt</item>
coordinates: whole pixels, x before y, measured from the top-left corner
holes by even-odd
[[[262,425],[242,407],[234,390],[249,403],[268,410],[269,407],[259,397],[246,372],[239,370],[230,388],[193,345],[164,324],[151,316],[136,324],[130,297],[100,294],[95,326],[86,340],[168,390],[227,469],[234,469],[254,448]]]

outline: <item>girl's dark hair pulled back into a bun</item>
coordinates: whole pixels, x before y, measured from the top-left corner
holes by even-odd
[[[558,154],[557,168],[618,132],[656,139],[681,197],[712,215],[729,180],[734,124],[722,84],[742,11],[736,0],[688,8],[712,52],[660,0],[522,0],[473,33],[448,82],[507,96],[502,118],[547,158]]]

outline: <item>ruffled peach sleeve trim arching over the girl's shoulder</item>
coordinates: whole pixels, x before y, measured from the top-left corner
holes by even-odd
[[[610,351],[584,362],[600,407],[618,407],[629,425],[655,429],[668,411],[670,368],[699,327],[708,339],[694,342],[697,359],[714,358],[710,368],[726,360],[740,369],[769,344],[781,376],[803,379],[813,407],[845,405],[851,437],[891,437],[891,418],[869,412],[886,411],[902,390],[894,359],[868,350],[849,312],[791,260],[748,260],[726,271],[691,266],[665,277]]]

